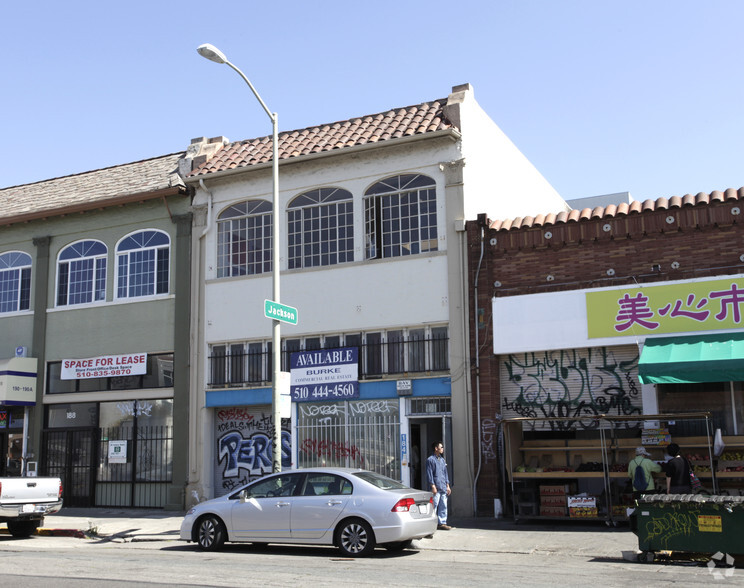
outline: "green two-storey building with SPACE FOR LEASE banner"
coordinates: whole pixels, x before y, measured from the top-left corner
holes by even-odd
[[[69,506],[183,508],[182,155],[0,190],[4,473],[61,477]]]

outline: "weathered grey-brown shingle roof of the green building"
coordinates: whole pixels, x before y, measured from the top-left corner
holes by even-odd
[[[185,186],[178,175],[183,153],[173,153],[33,184],[0,189],[0,224],[88,209],[109,200]]]

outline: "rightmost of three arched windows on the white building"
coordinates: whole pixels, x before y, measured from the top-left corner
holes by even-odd
[[[421,174],[394,176],[365,192],[366,259],[437,250],[437,191]]]

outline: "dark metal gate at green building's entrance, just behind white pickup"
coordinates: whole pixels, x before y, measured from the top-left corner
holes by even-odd
[[[65,506],[93,506],[96,429],[44,432],[42,474],[62,480]]]

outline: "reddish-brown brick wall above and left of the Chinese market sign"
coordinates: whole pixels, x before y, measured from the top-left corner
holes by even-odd
[[[644,203],[641,212],[627,216],[600,211],[591,218],[543,226],[523,219],[519,228],[503,230],[481,230],[477,222],[468,222],[471,333],[475,333],[477,323],[482,325],[477,351],[475,335],[470,342],[473,431],[477,435],[473,443],[481,446],[481,473],[476,486],[480,515],[492,514],[493,499],[503,497],[499,460],[491,459],[489,453],[489,419],[498,422],[501,412],[499,365],[491,340],[492,297],[744,273],[744,215],[739,214],[742,200],[738,195],[724,202],[692,206],[663,207],[659,203]],[[474,316],[473,286],[479,261],[478,320]],[[476,353],[480,422],[476,412]],[[495,435],[492,447],[497,449]]]

